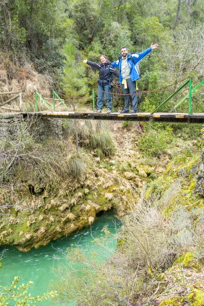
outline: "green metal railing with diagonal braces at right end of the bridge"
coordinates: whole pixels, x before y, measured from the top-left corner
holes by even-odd
[[[189,103],[188,103],[188,114],[192,114],[192,93],[201,85],[204,83],[204,80],[202,80],[197,86],[195,86],[192,89],[192,79],[190,78],[186,83],[184,83],[179,89],[177,89],[174,93],[172,93],[162,104],[160,104],[151,114],[154,114],[158,109],[161,108],[166,102],[168,102],[177,92],[182,90],[187,84],[189,84],[189,92],[188,94],[183,97],[179,103],[177,103],[170,111],[170,113],[175,110],[185,99],[189,98]]]

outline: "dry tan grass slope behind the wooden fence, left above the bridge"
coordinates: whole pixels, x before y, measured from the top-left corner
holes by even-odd
[[[16,58],[13,54],[0,53],[0,91],[22,91],[22,111],[34,110],[36,90],[43,97],[50,97],[52,84],[53,80],[48,75],[39,74],[25,55],[22,54],[21,58]],[[0,96],[0,103],[14,95]],[[5,106],[19,109],[19,99]],[[0,112],[5,112],[5,110],[0,109]]]

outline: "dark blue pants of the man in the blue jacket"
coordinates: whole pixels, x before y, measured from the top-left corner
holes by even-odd
[[[122,91],[124,94],[126,93],[136,93],[136,82],[132,82],[131,79],[127,79],[127,88],[124,89],[124,84],[122,84]],[[132,94],[132,110],[133,111],[137,111],[137,103],[138,103],[138,99],[137,99],[137,95],[136,94]],[[124,111],[129,112],[130,110],[130,95],[125,95],[124,96]]]

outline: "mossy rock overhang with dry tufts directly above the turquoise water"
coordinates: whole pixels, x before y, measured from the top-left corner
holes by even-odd
[[[93,168],[80,182],[70,180],[72,186],[67,186],[67,195],[63,196],[52,194],[49,185],[21,182],[29,186],[30,192],[19,194],[7,210],[10,216],[1,223],[1,244],[28,251],[88,226],[101,211],[114,208],[122,215],[131,193],[130,184],[124,180],[118,184],[105,170]]]

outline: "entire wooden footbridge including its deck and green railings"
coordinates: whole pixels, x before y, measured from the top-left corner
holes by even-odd
[[[166,104],[177,92],[181,91],[185,86],[189,84],[188,93],[171,109],[168,113],[158,112],[161,110],[161,107]],[[9,100],[5,101],[0,108],[17,111],[18,113],[22,114],[23,117],[28,116],[37,116],[42,118],[67,118],[67,119],[91,119],[91,120],[119,120],[119,121],[149,121],[149,122],[178,122],[178,123],[204,123],[204,113],[193,113],[192,112],[192,93],[198,89],[199,86],[204,84],[204,80],[200,81],[194,88],[192,88],[192,79],[186,81],[179,89],[176,89],[162,104],[160,104],[153,112],[151,113],[116,113],[112,109],[111,114],[97,113],[95,112],[95,104],[94,104],[94,90],[93,90],[93,111],[90,112],[83,112],[83,111],[69,111],[67,105],[64,103],[64,100],[61,99],[56,92],[53,91],[53,98],[43,98],[39,92],[35,92],[35,112],[28,112],[23,113],[20,110],[9,109],[3,107],[5,104],[10,103],[13,99],[20,98],[20,107],[22,105],[22,97],[19,91],[16,92],[7,92],[7,93],[0,93],[2,94],[14,94],[18,93],[16,96],[10,98]],[[203,86],[203,85],[202,85]],[[38,99],[40,98],[40,103],[47,108],[46,111],[38,111]],[[49,102],[49,100],[53,100],[53,104]],[[112,97],[113,99],[113,97]],[[184,100],[189,99],[188,102],[188,113],[177,113],[176,109],[184,102]],[[58,104],[56,105],[56,101]],[[63,105],[67,111],[56,111],[57,106]],[[113,106],[113,100],[112,100]],[[203,109],[204,110],[204,109]],[[173,113],[173,111],[175,113]]]

